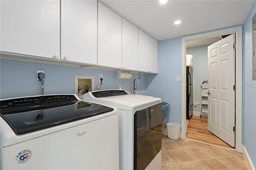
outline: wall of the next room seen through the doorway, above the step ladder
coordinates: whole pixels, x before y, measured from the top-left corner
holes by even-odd
[[[187,48],[187,54],[193,55],[193,101],[198,105],[194,106],[194,111],[200,112],[200,87],[202,82],[208,80],[208,57],[207,57],[208,45],[200,47]],[[207,84],[203,85],[203,88],[208,87]]]

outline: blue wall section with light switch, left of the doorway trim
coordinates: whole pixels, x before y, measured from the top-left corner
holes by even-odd
[[[181,38],[158,43],[158,75],[147,75],[146,93],[170,103],[167,122],[181,124]]]

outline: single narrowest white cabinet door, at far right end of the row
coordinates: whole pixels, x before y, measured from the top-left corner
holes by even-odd
[[[149,70],[151,73],[158,73],[158,41],[149,38]]]

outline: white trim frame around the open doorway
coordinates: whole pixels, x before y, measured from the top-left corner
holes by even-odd
[[[180,138],[185,139],[186,133],[186,41],[210,38],[220,35],[236,34],[236,151],[242,153],[242,26],[223,30],[182,37],[181,52],[181,127]]]

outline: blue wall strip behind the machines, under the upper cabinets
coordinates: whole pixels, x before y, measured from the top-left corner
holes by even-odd
[[[45,70],[44,94],[75,93],[74,75],[94,76],[96,89],[99,73],[103,74],[102,90],[118,89],[122,85],[122,89],[130,93],[133,91],[133,79],[139,76],[133,73],[131,79],[118,79],[116,71],[1,59],[0,99],[41,95],[41,82],[36,80],[37,69]],[[136,94],[145,94],[145,83],[146,75],[141,74]]]

